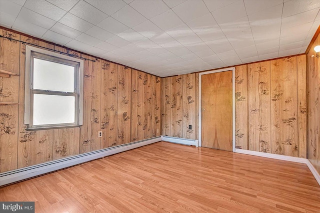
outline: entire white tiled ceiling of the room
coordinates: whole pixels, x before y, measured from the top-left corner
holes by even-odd
[[[320,0],[0,0],[0,25],[161,77],[303,53]]]

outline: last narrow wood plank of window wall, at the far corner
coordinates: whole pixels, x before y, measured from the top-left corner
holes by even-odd
[[[161,129],[161,79],[152,75],[152,137],[160,135]]]

